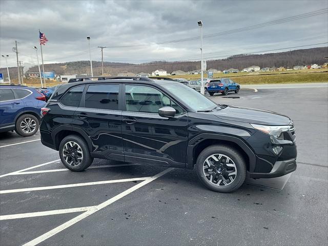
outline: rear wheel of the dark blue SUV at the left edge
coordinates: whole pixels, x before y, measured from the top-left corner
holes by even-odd
[[[22,137],[30,137],[39,130],[39,120],[32,114],[23,114],[15,123],[15,132]]]

